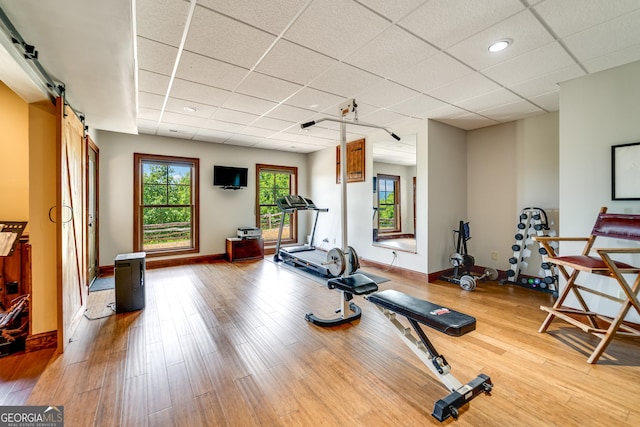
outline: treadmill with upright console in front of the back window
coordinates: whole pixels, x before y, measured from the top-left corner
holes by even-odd
[[[275,262],[285,262],[294,267],[303,267],[312,270],[313,272],[323,277],[333,277],[329,272],[326,265],[327,253],[318,250],[313,245],[313,239],[316,234],[316,224],[318,223],[318,215],[320,212],[328,212],[327,208],[317,207],[311,199],[307,199],[296,194],[290,194],[288,196],[279,197],[276,200],[276,204],[282,210],[282,221],[280,222],[280,229],[278,230],[278,242],[276,243],[276,252],[273,256]],[[296,211],[315,211],[315,219],[313,221],[313,228],[311,230],[311,239],[309,243],[300,246],[281,246],[282,241],[282,229],[284,227],[284,215],[291,215]],[[292,223],[289,221],[289,223]]]

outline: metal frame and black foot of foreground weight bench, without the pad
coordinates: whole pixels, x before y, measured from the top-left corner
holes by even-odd
[[[413,330],[420,337],[419,339],[413,336],[411,328],[405,327],[397,319],[396,313],[378,305],[376,305],[376,308],[395,326],[396,332],[411,351],[422,360],[433,375],[451,392],[451,394],[438,400],[435,404],[431,415],[438,421],[444,421],[449,417],[458,418],[458,408],[481,393],[489,394],[491,392],[493,384],[487,375],[480,374],[467,384],[462,384],[458,381],[451,373],[451,366],[444,356],[436,351],[418,322],[407,318]]]

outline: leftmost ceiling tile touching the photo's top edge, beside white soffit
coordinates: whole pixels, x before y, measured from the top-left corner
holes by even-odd
[[[136,0],[136,13],[145,19],[138,20],[138,35],[180,46],[187,23],[189,2],[176,0]]]

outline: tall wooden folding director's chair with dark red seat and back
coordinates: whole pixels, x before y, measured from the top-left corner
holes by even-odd
[[[600,209],[589,237],[533,237],[546,249],[547,262],[555,264],[567,281],[553,307],[540,307],[540,309],[549,314],[542,322],[538,332],[545,332],[553,319],[558,317],[582,329],[584,332],[598,337],[600,342],[587,359],[588,363],[596,363],[616,335],[640,337],[640,330],[623,323],[624,318],[632,307],[640,314],[640,301],[638,300],[640,267],[634,267],[612,258],[612,256],[620,254],[640,254],[640,246],[594,248],[597,237],[640,241],[640,215],[608,214],[607,208],[603,207]],[[558,256],[551,246],[552,242],[578,241],[585,242],[581,255]],[[596,252],[598,256],[590,255],[593,252]],[[567,268],[570,269],[571,273],[567,271]],[[616,297],[579,284],[577,279],[581,273],[583,275],[597,274],[613,279],[622,289],[624,297]],[[629,284],[624,277],[625,274],[636,274],[633,285]],[[581,309],[563,306],[570,293],[576,297]],[[590,293],[620,303],[618,313],[614,317],[610,317],[591,311],[583,297],[584,293]],[[604,325],[607,325],[607,327],[604,327]]]

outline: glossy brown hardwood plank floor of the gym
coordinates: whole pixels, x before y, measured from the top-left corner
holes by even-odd
[[[462,382],[495,385],[460,411],[457,426],[640,425],[640,342],[616,340],[597,365],[596,341],[554,321],[551,296],[479,283],[418,283],[365,268],[399,291],[477,318],[459,338],[426,332]],[[90,295],[87,316],[111,312],[113,291]],[[30,355],[0,359],[24,378],[0,385],[0,404],[64,405],[67,426],[418,426],[444,386],[371,303],[362,319],[323,329],[339,294],[268,261],[148,270],[146,307],[83,319],[37,383]],[[46,355],[45,355],[46,356]],[[3,369],[0,369],[0,375]]]

